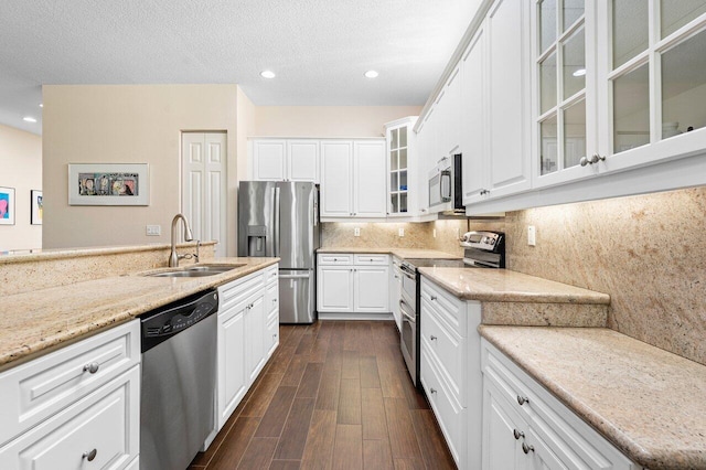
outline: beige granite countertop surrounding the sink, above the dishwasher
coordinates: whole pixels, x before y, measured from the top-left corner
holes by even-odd
[[[247,276],[279,258],[217,258],[204,264],[245,264],[206,277],[146,277],[170,268],[34,290],[2,299],[0,368],[116,325],[174,300]],[[186,265],[184,265],[186,267]],[[14,365],[14,364],[11,364]]]

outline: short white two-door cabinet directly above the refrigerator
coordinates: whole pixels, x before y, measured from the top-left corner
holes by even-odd
[[[319,182],[319,141],[309,139],[254,139],[253,180]]]

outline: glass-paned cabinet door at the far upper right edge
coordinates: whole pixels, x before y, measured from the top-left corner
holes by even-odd
[[[610,0],[608,153],[706,127],[706,0]]]

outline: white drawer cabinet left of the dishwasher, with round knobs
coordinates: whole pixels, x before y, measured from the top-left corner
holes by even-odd
[[[88,456],[97,468],[131,464],[140,446],[139,335],[133,320],[0,374],[0,468],[74,469]]]

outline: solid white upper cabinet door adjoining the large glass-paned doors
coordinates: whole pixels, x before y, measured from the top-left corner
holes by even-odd
[[[498,0],[485,33],[490,73],[490,196],[530,188],[526,6]]]

